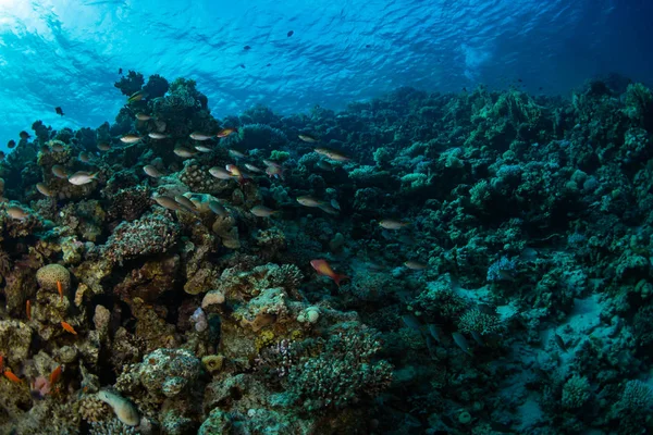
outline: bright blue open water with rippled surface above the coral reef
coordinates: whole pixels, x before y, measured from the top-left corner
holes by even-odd
[[[611,72],[648,82],[652,12],[645,0],[1,0],[0,141],[36,119],[113,121],[119,69],[194,78],[215,116],[341,109],[399,86],[521,79],[564,95]]]

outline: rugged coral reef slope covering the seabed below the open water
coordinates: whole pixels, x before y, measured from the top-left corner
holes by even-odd
[[[619,83],[219,120],[130,71],[114,123],[35,122],[0,433],[653,431],[653,98]]]

